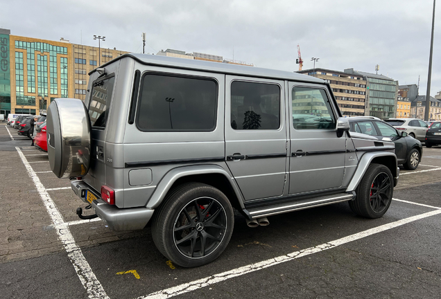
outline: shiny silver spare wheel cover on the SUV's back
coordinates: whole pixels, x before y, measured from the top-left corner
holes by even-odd
[[[85,176],[90,163],[90,120],[83,101],[58,98],[47,110],[47,152],[59,178]]]

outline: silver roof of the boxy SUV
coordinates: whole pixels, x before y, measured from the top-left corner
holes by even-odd
[[[125,57],[130,57],[141,64],[152,65],[152,66],[170,66],[178,69],[191,69],[196,71],[209,71],[211,73],[226,73],[229,75],[249,75],[261,78],[270,79],[281,79],[281,80],[296,80],[301,82],[310,82],[325,84],[325,80],[311,77],[309,75],[302,75],[300,73],[294,73],[289,71],[277,71],[274,69],[263,69],[254,66],[243,66],[239,64],[226,64],[221,62],[207,62],[204,60],[189,60],[177,57],[167,57],[162,55],[150,55],[150,54],[138,54],[130,53],[124,54],[116,57],[114,60],[110,60],[100,66],[100,68],[105,67],[108,64],[115,62],[116,60],[123,59]],[[98,68],[98,69],[100,69]],[[89,73],[91,75],[96,71],[94,69]]]

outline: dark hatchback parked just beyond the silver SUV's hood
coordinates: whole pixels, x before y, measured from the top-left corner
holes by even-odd
[[[407,170],[417,169],[422,158],[422,145],[417,139],[372,116],[349,118],[349,124],[350,132],[367,134],[381,141],[392,141],[395,143],[397,163]]]

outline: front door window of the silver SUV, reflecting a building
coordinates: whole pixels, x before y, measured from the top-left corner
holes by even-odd
[[[324,89],[293,88],[294,129],[335,129],[336,118]]]

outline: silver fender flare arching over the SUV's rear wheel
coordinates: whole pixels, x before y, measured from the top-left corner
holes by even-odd
[[[215,164],[182,166],[173,168],[172,170],[168,171],[164,175],[162,180],[159,181],[159,183],[157,184],[155,192],[153,192],[150,199],[148,199],[146,208],[157,208],[159,204],[162,203],[162,201],[166,197],[166,194],[171,189],[171,186],[173,185],[173,183],[175,183],[175,181],[184,176],[191,176],[196,174],[222,174],[223,176],[225,176],[227,181],[230,183],[234,193],[236,194],[237,199],[239,199],[239,204],[241,205],[241,208],[245,208],[245,206],[243,206],[244,200],[242,193],[239,190],[239,186],[236,184],[236,181],[234,181],[234,178],[232,178],[231,174],[223,169],[223,167]]]

